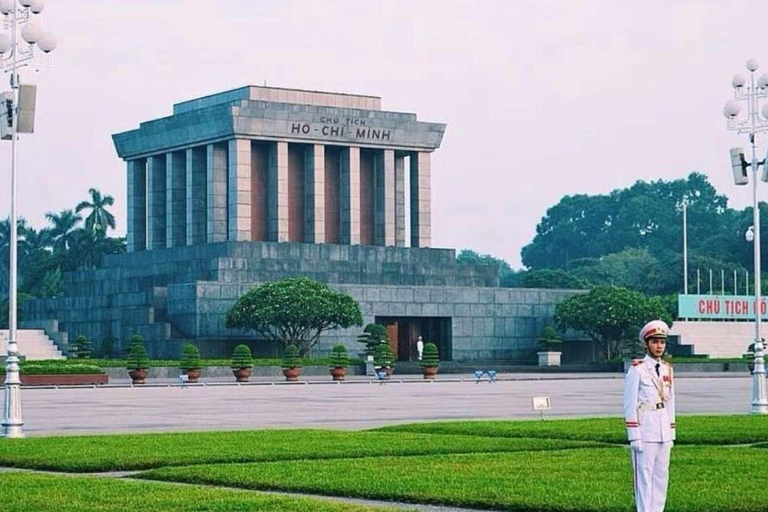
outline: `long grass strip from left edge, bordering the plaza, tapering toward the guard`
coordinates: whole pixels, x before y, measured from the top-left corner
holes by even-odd
[[[68,472],[126,471],[191,464],[599,446],[564,439],[507,439],[408,432],[259,430],[0,441],[0,466]]]

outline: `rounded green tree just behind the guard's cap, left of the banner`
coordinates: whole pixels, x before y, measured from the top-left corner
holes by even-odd
[[[609,361],[622,355],[631,332],[657,319],[672,324],[659,299],[614,286],[598,286],[562,301],[555,309],[558,329],[587,334]]]

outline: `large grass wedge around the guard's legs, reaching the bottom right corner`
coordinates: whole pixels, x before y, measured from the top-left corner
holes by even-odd
[[[765,510],[753,448],[678,447],[669,512]],[[163,468],[140,478],[515,511],[630,512],[626,448]]]

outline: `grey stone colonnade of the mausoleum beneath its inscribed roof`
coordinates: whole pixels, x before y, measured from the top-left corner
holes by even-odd
[[[429,247],[428,152],[233,139],[129,160],[128,251],[227,240],[405,247],[406,173],[410,245]]]

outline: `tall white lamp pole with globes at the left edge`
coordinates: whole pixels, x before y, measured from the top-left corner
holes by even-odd
[[[3,105],[7,128],[11,139],[11,240],[10,272],[8,291],[8,358],[5,365],[5,388],[2,435],[3,437],[24,437],[24,421],[21,415],[21,380],[19,379],[19,348],[17,330],[17,215],[16,215],[16,143],[19,127],[19,70],[25,66],[45,63],[39,55],[48,54],[56,48],[56,37],[43,32],[37,15],[43,11],[45,0],[0,0],[3,29],[0,33],[0,68],[11,76],[12,95],[4,98]],[[33,114],[34,115],[34,114]],[[31,132],[31,130],[25,130]]]

